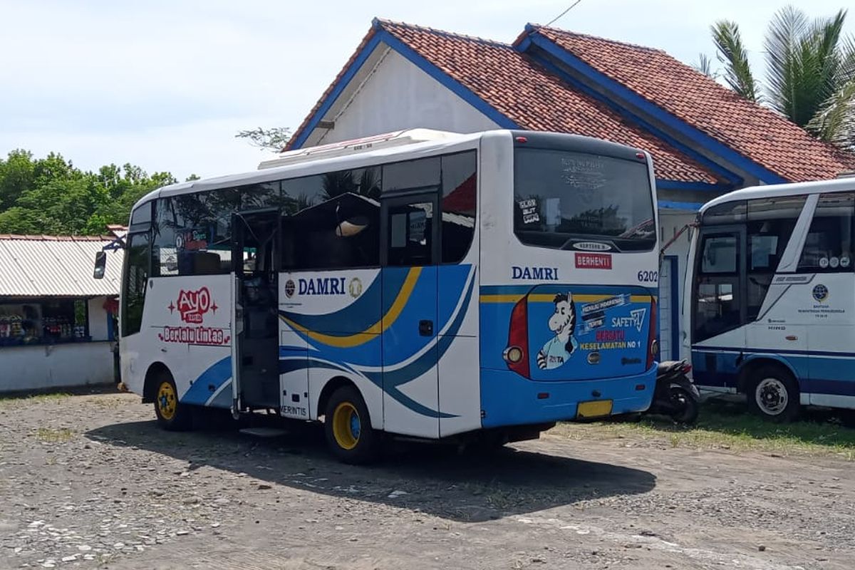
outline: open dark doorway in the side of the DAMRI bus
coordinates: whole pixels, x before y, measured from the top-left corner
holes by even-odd
[[[232,412],[280,408],[277,210],[233,214]]]

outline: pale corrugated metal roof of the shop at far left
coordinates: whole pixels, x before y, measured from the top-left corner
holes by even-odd
[[[0,296],[100,297],[119,294],[122,250],[109,251],[103,279],[95,254],[107,237],[0,235]]]

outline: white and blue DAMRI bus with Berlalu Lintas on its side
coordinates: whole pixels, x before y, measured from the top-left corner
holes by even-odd
[[[504,442],[648,408],[650,156],[427,133],[291,151],[134,206],[121,373],[162,426],[194,406],[323,419],[356,462],[380,432]]]

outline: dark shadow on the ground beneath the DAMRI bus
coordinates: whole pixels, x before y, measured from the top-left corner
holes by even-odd
[[[187,461],[189,469],[209,466],[246,473],[271,485],[460,521],[643,493],[656,485],[655,476],[646,471],[510,447],[461,455],[449,447],[408,444],[377,464],[353,467],[327,455],[321,426],[301,423],[291,429],[284,436],[255,438],[233,430],[163,432],[155,422],[141,421],[103,426],[85,435],[104,444],[169,455]]]

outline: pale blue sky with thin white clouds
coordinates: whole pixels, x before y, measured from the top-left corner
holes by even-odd
[[[241,129],[296,128],[374,16],[512,42],[573,0],[0,0],[0,156],[54,151],[78,167],[132,162],[179,179],[254,170]],[[715,53],[737,21],[762,79],[763,34],[783,2],[581,0],[553,26],[668,51]],[[811,16],[840,0],[812,0]],[[855,14],[847,22],[855,32]]]

